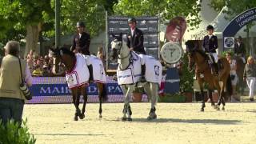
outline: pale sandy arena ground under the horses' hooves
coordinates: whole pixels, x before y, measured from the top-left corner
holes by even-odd
[[[80,105],[81,106],[81,105]],[[256,102],[227,103],[225,111],[209,103],[158,103],[158,119],[146,120],[149,103],[132,103],[133,122],[122,122],[122,103],[86,106],[86,119],[73,121],[71,104],[26,105],[30,133],[36,143],[255,143]]]

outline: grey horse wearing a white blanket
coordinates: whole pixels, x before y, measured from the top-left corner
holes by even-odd
[[[122,34],[119,36],[115,36],[112,34],[112,37],[114,40],[111,42],[111,50],[113,50],[112,57],[113,58],[118,58],[118,70],[117,70],[117,76],[118,76],[118,85],[121,85],[123,94],[125,95],[124,98],[124,107],[122,110],[122,121],[132,121],[131,115],[132,115],[132,110],[130,108],[130,95],[134,91],[135,87],[142,86],[144,88],[144,91],[146,92],[150,102],[151,102],[151,108],[150,108],[150,113],[147,117],[148,120],[156,119],[157,114],[156,114],[156,104],[158,102],[158,89],[160,86],[160,82],[153,82],[146,76],[146,82],[139,82],[139,79],[141,78],[141,63],[138,65],[136,64],[135,61],[140,61],[140,57],[138,54],[136,54],[134,51],[130,51],[128,46],[126,46],[126,42],[122,39]],[[113,55],[116,54],[116,55]],[[150,58],[154,64],[153,70],[148,70],[150,69],[150,66],[147,66],[146,64],[146,75],[147,73],[150,74],[150,71],[156,72],[160,79],[162,79],[162,65],[160,62],[156,61],[155,58],[143,55],[145,58]],[[150,61],[147,59],[146,62]],[[132,70],[131,70],[132,69]],[[131,74],[129,75],[130,77],[134,79],[134,82],[128,82],[130,80],[125,80],[126,82],[121,82],[122,78],[122,72],[124,71],[130,71]],[[136,70],[139,72],[137,74]],[[126,75],[127,76],[127,75]],[[124,76],[124,77],[126,77]],[[154,78],[154,74],[151,75],[151,78]]]

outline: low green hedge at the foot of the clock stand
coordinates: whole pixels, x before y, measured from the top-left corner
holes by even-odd
[[[158,102],[186,102],[186,96],[183,94],[165,94],[159,97]]]

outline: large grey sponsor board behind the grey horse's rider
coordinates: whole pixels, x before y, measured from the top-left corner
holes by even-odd
[[[128,34],[130,28],[127,23],[128,17],[122,16],[110,16],[107,18],[107,31],[108,31],[108,55],[111,55],[112,50],[110,47],[110,42],[113,41],[113,37],[111,34],[119,35],[122,33],[122,37],[126,41],[126,34]],[[158,59],[158,17],[138,17],[137,27],[142,30],[144,37],[144,48],[146,50],[146,54],[153,56]],[[108,57],[107,59],[108,67],[107,70],[116,70],[118,68],[117,59],[112,59]]]

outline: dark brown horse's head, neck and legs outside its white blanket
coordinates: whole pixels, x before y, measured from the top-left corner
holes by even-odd
[[[71,71],[74,69],[75,63],[76,63],[76,55],[68,50],[65,47],[62,47],[60,49],[50,49],[50,57],[54,58],[55,65],[58,62],[62,62],[66,66],[67,71]],[[56,67],[54,65],[53,73],[58,73]],[[99,118],[102,118],[102,102],[107,99],[106,95],[106,88],[105,84],[101,82],[96,82],[98,86],[98,98],[99,98]],[[78,117],[80,119],[85,118],[85,111],[86,111],[86,103],[87,103],[87,93],[86,93],[86,87],[88,84],[84,84],[82,86],[76,86],[74,88],[70,88],[73,98],[73,103],[75,106],[75,114],[74,114],[74,121],[78,121]],[[80,103],[80,95],[83,96],[83,106],[82,106],[82,112],[79,109],[79,103]]]

